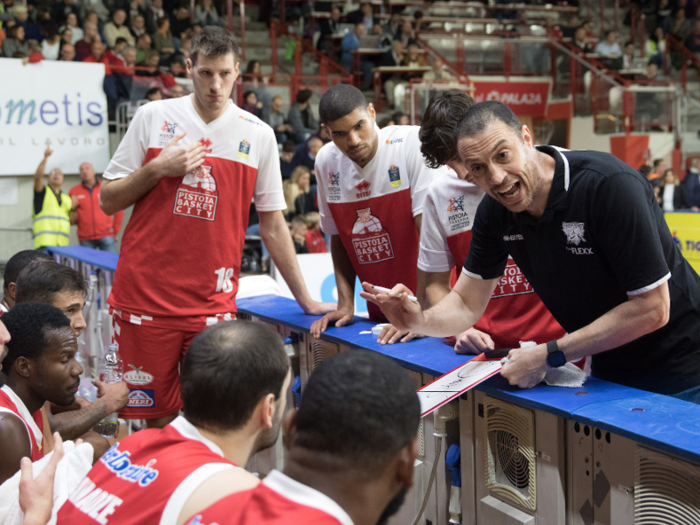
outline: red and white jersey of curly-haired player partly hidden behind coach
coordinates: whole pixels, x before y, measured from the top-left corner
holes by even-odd
[[[433,273],[461,270],[483,197],[481,189],[452,170],[432,182],[423,209],[418,268]],[[518,348],[520,341],[546,343],[566,333],[511,258],[475,328],[489,334],[501,349]]]

